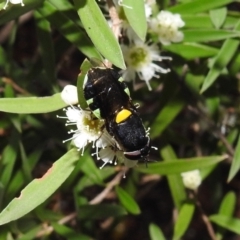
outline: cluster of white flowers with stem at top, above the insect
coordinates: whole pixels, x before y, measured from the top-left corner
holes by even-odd
[[[132,7],[122,4],[122,1],[115,0],[114,3],[121,20],[119,27],[124,36],[121,48],[127,69],[123,70],[122,74],[126,81],[134,81],[138,77],[145,81],[148,89],[151,90],[149,81],[152,78],[159,78],[159,74],[166,74],[170,71],[159,65],[159,62],[171,60],[171,57],[160,55],[158,43],[169,45],[171,42],[181,42],[184,35],[178,29],[184,26],[184,22],[179,14],[172,14],[168,11],[160,11],[156,16],[152,16],[152,8],[156,3],[154,0],[145,0],[148,33],[156,35],[159,41],[150,44],[141,40],[127,21],[124,8],[132,9]]]

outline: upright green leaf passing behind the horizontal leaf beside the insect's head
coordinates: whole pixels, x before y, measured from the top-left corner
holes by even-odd
[[[171,162],[177,158],[171,146],[167,145],[161,149],[161,156],[165,162]],[[182,203],[186,201],[187,195],[180,174],[167,175],[168,185],[171,190],[174,205],[180,209]]]

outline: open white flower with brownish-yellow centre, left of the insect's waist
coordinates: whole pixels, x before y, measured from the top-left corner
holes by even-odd
[[[82,150],[83,155],[88,143],[93,143],[94,146],[97,141],[100,141],[103,135],[102,126],[104,121],[96,119],[95,117],[93,118],[90,111],[84,111],[80,108],[68,107],[65,111],[67,117],[58,117],[68,119],[66,125],[74,125],[76,129],[68,132],[69,134],[73,134],[73,136],[64,142],[73,140],[74,145],[79,151]],[[103,144],[98,143],[98,147],[103,146]]]

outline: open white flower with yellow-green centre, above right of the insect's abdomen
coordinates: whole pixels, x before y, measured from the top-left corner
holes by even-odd
[[[170,57],[160,56],[157,45],[147,45],[139,39],[135,39],[134,44],[129,46],[121,45],[127,69],[122,71],[126,81],[135,80],[136,73],[141,80],[144,80],[149,90],[152,90],[149,81],[153,77],[159,77],[158,73],[168,73],[169,69],[164,69],[154,63],[163,59],[171,60]]]

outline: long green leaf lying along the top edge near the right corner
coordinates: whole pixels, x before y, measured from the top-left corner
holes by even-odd
[[[173,7],[168,8],[167,10],[170,12],[180,14],[188,13],[194,14],[218,8],[234,1],[235,0],[217,0],[217,1],[195,0],[183,4],[176,4]]]

